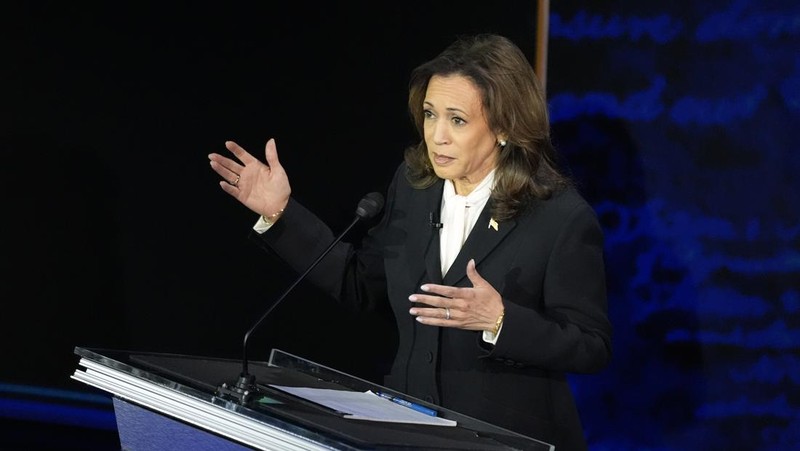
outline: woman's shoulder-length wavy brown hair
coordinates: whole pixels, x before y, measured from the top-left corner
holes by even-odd
[[[531,201],[546,199],[571,184],[558,168],[544,92],[530,63],[508,38],[480,34],[460,37],[411,72],[408,108],[421,139],[405,150],[405,161],[406,177],[414,188],[427,188],[439,180],[423,131],[423,102],[434,75],[472,80],[481,93],[489,128],[507,136],[507,144],[498,146],[494,218],[514,217]]]

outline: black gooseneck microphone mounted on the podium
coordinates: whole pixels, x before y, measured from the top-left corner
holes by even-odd
[[[321,262],[322,259],[330,253],[333,247],[336,246],[336,244],[339,243],[342,238],[344,238],[347,232],[349,232],[350,229],[352,229],[353,226],[358,223],[358,221],[375,217],[378,213],[380,213],[381,209],[383,209],[383,196],[380,193],[369,193],[358,202],[358,207],[356,208],[356,217],[353,219],[353,222],[351,222],[350,225],[344,229],[344,232],[339,234],[339,236],[337,236],[331,242],[331,244],[328,245],[328,247],[319,255],[319,257],[317,257],[317,259],[314,260],[314,262],[311,263],[311,265],[302,274],[300,274],[300,277],[295,279],[295,281],[289,285],[289,288],[287,288],[283,294],[278,297],[278,300],[273,302],[269,309],[267,309],[267,311],[261,315],[261,318],[259,318],[259,320],[253,324],[253,327],[251,327],[250,330],[244,334],[244,346],[242,348],[242,372],[239,374],[239,379],[237,379],[233,386],[223,383],[217,387],[217,396],[232,398],[239,401],[240,404],[247,404],[256,394],[259,393],[258,385],[256,384],[256,377],[250,374],[247,370],[247,340],[250,338],[250,335],[252,335],[253,331],[256,330],[256,328],[267,316],[269,316],[272,310],[274,310],[275,307],[277,307],[278,304],[280,304],[281,301],[283,301],[286,296],[292,290],[294,290],[294,288],[303,279],[306,278],[308,273],[310,273],[311,270],[313,270],[319,264],[319,262]]]

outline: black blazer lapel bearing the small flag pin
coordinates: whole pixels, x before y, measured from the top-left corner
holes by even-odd
[[[445,274],[442,281],[444,285],[455,286],[461,279],[464,279],[467,276],[467,262],[474,258],[475,263],[479,264],[517,226],[517,222],[513,219],[502,222],[495,221],[491,217],[491,211],[492,200],[489,199],[478,217],[478,222],[475,223],[464,246],[461,247],[458,257]]]

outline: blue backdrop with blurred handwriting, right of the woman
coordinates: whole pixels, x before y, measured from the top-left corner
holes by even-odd
[[[556,138],[607,237],[594,450],[800,446],[800,6],[553,2]]]

